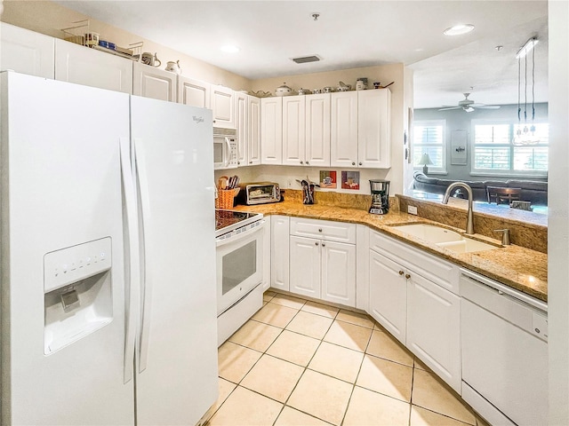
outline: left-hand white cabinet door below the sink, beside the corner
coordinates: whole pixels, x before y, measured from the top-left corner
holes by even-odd
[[[404,268],[370,250],[370,314],[405,344],[407,285]]]

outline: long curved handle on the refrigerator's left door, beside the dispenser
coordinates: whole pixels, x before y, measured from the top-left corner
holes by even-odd
[[[136,216],[136,192],[132,180],[132,162],[130,138],[120,138],[121,176],[124,191],[124,210],[126,213],[125,241],[125,320],[126,330],[124,335],[124,383],[129,383],[134,375],[134,347],[136,344],[136,325],[138,315],[138,299],[140,291],[140,266],[139,266],[139,239]]]

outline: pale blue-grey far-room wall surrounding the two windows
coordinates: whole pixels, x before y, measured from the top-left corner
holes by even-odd
[[[529,107],[529,106],[528,106]],[[522,106],[522,114],[523,113]],[[531,114],[531,113],[530,113]],[[472,120],[510,120],[517,122],[517,105],[502,105],[500,109],[477,109],[466,113],[461,109],[438,111],[437,108],[415,109],[414,120],[446,120],[446,171],[445,179],[452,180],[485,180],[488,177],[471,176],[472,164]],[[536,122],[548,121],[548,104],[535,104]],[[466,165],[451,164],[451,135],[453,130],[467,130],[467,163]],[[437,177],[435,174],[433,177]],[[508,180],[511,177],[492,177],[493,180]],[[516,179],[523,177],[516,177]],[[534,178],[531,180],[547,180],[547,178]]]

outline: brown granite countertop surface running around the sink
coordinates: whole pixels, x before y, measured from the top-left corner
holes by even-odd
[[[488,251],[456,253],[397,231],[397,226],[393,225],[430,223],[444,226],[459,233],[464,233],[464,230],[399,211],[390,211],[387,215],[371,215],[362,209],[347,209],[318,204],[305,205],[298,201],[283,201],[257,206],[236,206],[235,209],[258,212],[263,215],[309,217],[368,225],[375,231],[386,233],[399,241],[405,241],[415,247],[422,248],[431,254],[497,280],[511,288],[516,288],[541,301],[547,302],[548,300],[548,256],[530,248],[512,244]],[[500,245],[501,242],[480,234],[474,234],[472,237],[493,245]]]

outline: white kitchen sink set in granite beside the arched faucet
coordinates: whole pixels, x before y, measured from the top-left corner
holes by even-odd
[[[475,251],[486,251],[500,248],[486,242],[477,241],[466,237],[461,233],[456,233],[443,226],[428,224],[393,225],[394,229],[401,233],[413,235],[424,241],[437,244],[439,247],[447,248],[457,253],[471,253]]]

